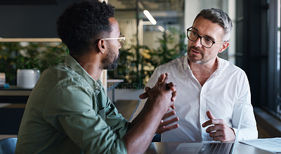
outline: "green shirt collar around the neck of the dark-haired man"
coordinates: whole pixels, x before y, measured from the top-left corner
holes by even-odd
[[[101,83],[100,79],[94,80],[71,55],[65,57],[65,64],[69,66],[72,71],[82,76],[92,86],[95,93],[103,89],[103,83]]]

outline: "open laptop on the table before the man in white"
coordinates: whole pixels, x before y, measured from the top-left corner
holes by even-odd
[[[241,121],[242,117],[244,115],[244,106],[245,102],[247,100],[247,94],[245,94],[243,104],[242,104],[242,111],[240,113],[240,118],[238,122],[236,137],[234,142],[218,142],[218,141],[209,141],[209,142],[203,142],[203,143],[182,143],[179,144],[176,147],[176,150],[173,152],[173,154],[180,154],[180,153],[231,153],[233,154],[235,152],[235,146],[237,145],[237,139],[240,134],[240,127],[241,127]]]

